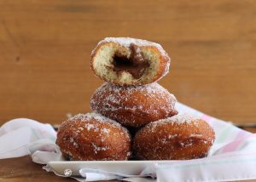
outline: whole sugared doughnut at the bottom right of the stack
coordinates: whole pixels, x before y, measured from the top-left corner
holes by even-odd
[[[205,157],[215,139],[200,118],[177,115],[151,122],[137,132],[133,149],[146,160],[184,160]]]

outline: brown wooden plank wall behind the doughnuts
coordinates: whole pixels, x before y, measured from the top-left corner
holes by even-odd
[[[90,111],[102,84],[90,52],[103,37],[161,43],[172,68],[160,84],[177,100],[256,122],[253,0],[0,0],[0,124],[15,117],[60,123]]]

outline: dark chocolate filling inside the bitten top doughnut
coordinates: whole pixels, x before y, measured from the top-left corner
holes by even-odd
[[[143,59],[141,49],[135,45],[130,45],[131,56],[127,58],[124,55],[118,53],[113,56],[113,71],[118,74],[120,72],[129,72],[132,77],[139,79],[143,77],[144,71],[149,67],[148,61]]]

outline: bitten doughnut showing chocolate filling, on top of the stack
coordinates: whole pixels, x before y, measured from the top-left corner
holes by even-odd
[[[158,43],[129,37],[107,37],[92,51],[90,67],[96,76],[119,85],[156,82],[171,59]]]

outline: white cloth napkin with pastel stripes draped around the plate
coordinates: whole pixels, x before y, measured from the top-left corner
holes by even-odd
[[[177,103],[179,113],[191,113],[206,120],[216,133],[216,140],[207,158],[170,161],[148,166],[142,173],[125,175],[90,168],[81,168],[79,181],[122,179],[127,181],[231,181],[256,179],[256,134],[236,128],[230,122],[209,117],[189,106]],[[47,164],[64,160],[55,145],[55,130],[49,124],[30,119],[15,119],[0,128],[0,159],[32,155],[32,161]],[[48,165],[47,171],[52,171]],[[54,172],[54,171],[53,171]],[[55,173],[56,175],[60,175]],[[141,177],[141,178],[140,178]]]

